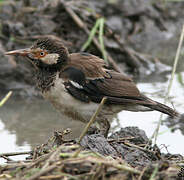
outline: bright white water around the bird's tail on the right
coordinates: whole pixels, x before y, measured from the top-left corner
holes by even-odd
[[[182,73],[182,77],[184,77],[184,73]],[[148,97],[163,103],[164,100],[160,97],[160,95],[164,97],[168,83],[138,83],[137,86],[140,91]],[[174,108],[177,109],[178,112],[184,113],[184,86],[178,82],[178,76],[175,76],[170,96]],[[172,107],[171,103],[167,103],[167,105]],[[138,126],[140,129],[143,129],[146,132],[148,137],[151,137],[155,128],[157,127],[157,122],[160,119],[160,114],[161,113],[157,111],[122,111],[118,114],[119,122],[117,122],[117,120],[114,121],[112,126],[117,126],[118,123],[121,125],[121,127]],[[164,115],[163,119],[166,117],[167,116]],[[172,133],[167,126],[162,125],[159,132],[160,133],[158,136],[157,145],[162,147],[162,152],[167,153],[168,151],[169,153],[180,153],[184,155],[182,144],[184,136],[179,130],[176,130],[174,133]]]

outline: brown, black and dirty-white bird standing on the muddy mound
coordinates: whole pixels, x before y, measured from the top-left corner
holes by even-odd
[[[103,59],[86,52],[69,53],[59,41],[41,38],[29,48],[6,55],[28,59],[34,66],[36,84],[43,97],[72,120],[89,122],[106,97],[96,118],[105,136],[110,128],[109,119],[122,110],[156,110],[171,118],[179,116],[176,110],[143,95],[131,78],[109,69]]]

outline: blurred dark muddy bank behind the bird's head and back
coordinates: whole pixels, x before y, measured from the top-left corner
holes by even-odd
[[[154,74],[157,78],[152,81],[165,81],[160,74],[170,71],[158,60],[167,63],[175,55],[173,46],[178,41],[173,38],[180,34],[183,6],[182,2],[146,0],[1,1],[1,94],[14,90],[15,95],[23,97],[39,95],[32,80],[33,67],[20,57],[5,56],[6,51],[29,47],[35,39],[48,35],[63,41],[70,52],[81,51],[88,34],[66,7],[74,11],[88,31],[97,18],[105,17],[105,48],[123,72],[141,81],[145,81],[145,74],[148,80]],[[94,43],[86,51],[102,57]]]

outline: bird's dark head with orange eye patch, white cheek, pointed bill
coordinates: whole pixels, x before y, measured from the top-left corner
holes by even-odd
[[[6,52],[6,55],[27,57],[37,69],[57,70],[68,60],[67,48],[49,38],[37,40],[30,48]]]

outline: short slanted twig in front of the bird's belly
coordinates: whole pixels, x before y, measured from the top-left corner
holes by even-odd
[[[97,115],[99,114],[99,112],[101,111],[105,101],[106,101],[106,97],[103,97],[103,99],[101,100],[97,110],[95,111],[95,113],[93,114],[93,116],[91,117],[90,121],[88,122],[88,124],[86,125],[86,127],[84,128],[84,130],[82,131],[80,137],[79,137],[79,141],[78,143],[80,144],[82,138],[84,137],[84,135],[86,134],[86,132],[88,131],[89,127],[91,126],[91,124],[93,124],[95,122],[95,119],[97,117]]]

